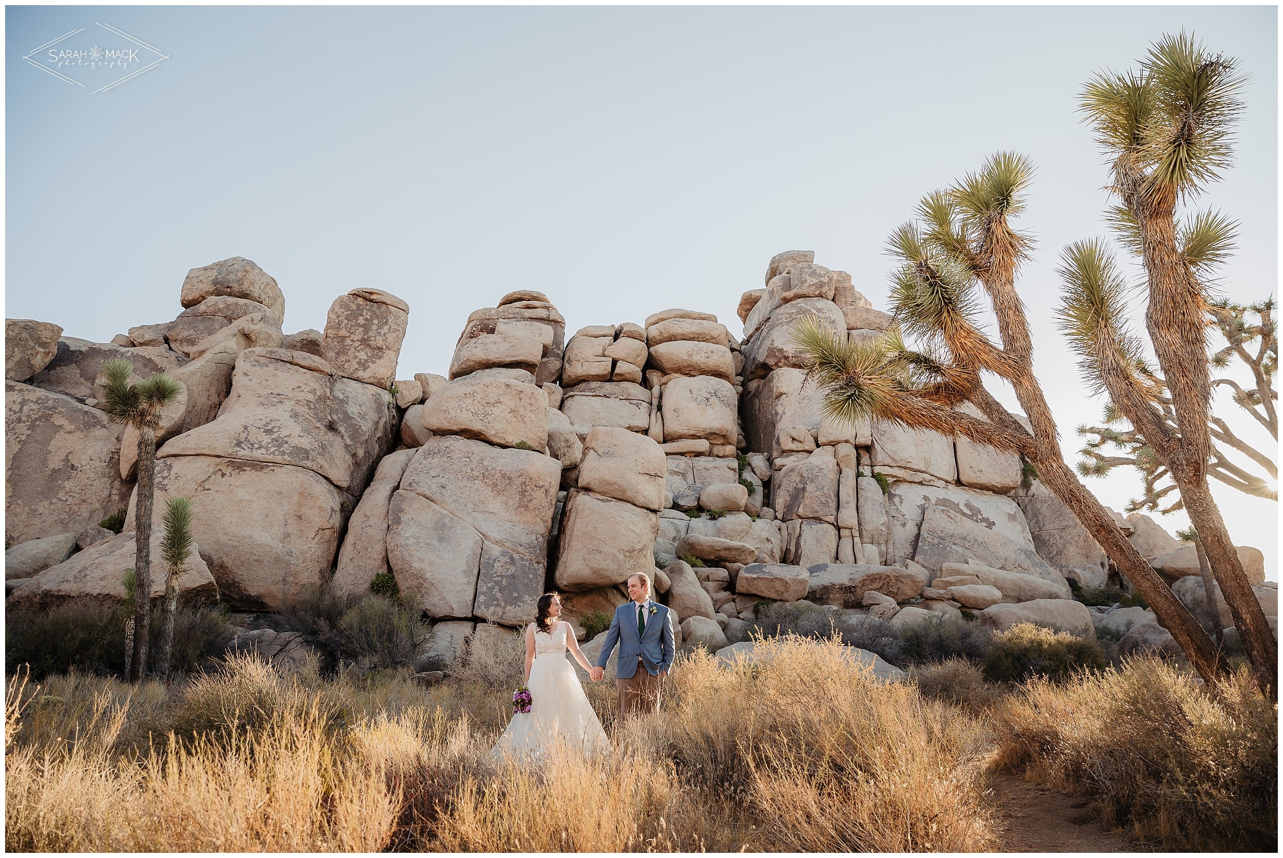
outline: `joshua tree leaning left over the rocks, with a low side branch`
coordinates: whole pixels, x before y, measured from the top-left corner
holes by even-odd
[[[1015,289],[1030,242],[1008,219],[1024,210],[1032,172],[1025,158],[999,153],[979,173],[926,196],[917,210],[921,224],[899,227],[889,241],[901,260],[892,285],[898,330],[880,341],[843,342],[819,322],[803,321],[794,336],[810,358],[807,376],[824,390],[822,408],[831,421],[872,416],[1020,453],[1153,607],[1211,685],[1224,668],[1219,652],[1061,454],[1051,408],[1033,372],[1029,323]],[[974,318],[976,283],[997,317],[1002,348],[980,332]],[[906,349],[902,333],[921,349]],[[985,390],[980,372],[1011,382],[1032,433]],[[962,400],[974,403],[989,422],[953,410]]]

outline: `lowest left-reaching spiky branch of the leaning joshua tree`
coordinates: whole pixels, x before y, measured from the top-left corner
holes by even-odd
[[[867,342],[847,341],[817,317],[804,315],[790,333],[807,357],[804,383],[822,391],[821,414],[835,426],[853,427],[878,418],[1005,450],[1029,446],[1028,437],[949,408],[966,398],[974,374],[905,349],[894,330]]]

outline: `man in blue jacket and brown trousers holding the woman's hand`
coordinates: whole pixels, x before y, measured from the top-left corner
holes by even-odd
[[[629,576],[629,595],[633,601],[615,609],[602,654],[589,673],[594,682],[600,680],[611,652],[620,645],[615,685],[620,693],[621,716],[659,711],[661,681],[676,650],[672,616],[663,605],[650,601],[650,577],[644,572]]]

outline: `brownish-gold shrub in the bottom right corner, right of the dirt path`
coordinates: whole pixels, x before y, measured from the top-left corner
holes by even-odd
[[[1156,657],[1030,680],[998,712],[999,764],[1087,794],[1165,850],[1278,850],[1278,709],[1247,671],[1218,695]]]

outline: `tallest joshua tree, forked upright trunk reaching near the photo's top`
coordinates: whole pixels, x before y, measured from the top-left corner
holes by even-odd
[[[1174,426],[1161,419],[1152,382],[1135,369],[1139,346],[1128,341],[1117,308],[1109,304],[1109,280],[1116,272],[1098,242],[1066,250],[1064,313],[1073,317],[1070,339],[1089,372],[1101,376],[1111,401],[1170,471],[1253,673],[1274,694],[1278,645],[1207,485],[1211,303],[1205,272],[1229,253],[1233,224],[1215,214],[1177,223],[1178,204],[1201,194],[1230,163],[1230,126],[1243,106],[1243,78],[1234,65],[1184,33],[1166,36],[1150,49],[1139,72],[1101,73],[1082,100],[1097,142],[1112,158],[1110,190],[1121,205],[1111,218],[1124,244],[1144,262],[1146,328]],[[1092,283],[1093,277],[1098,282]]]

